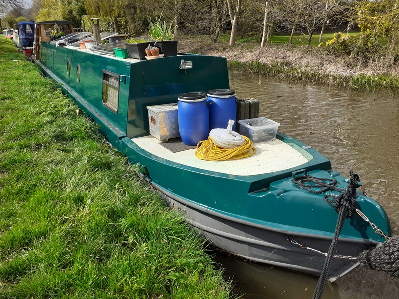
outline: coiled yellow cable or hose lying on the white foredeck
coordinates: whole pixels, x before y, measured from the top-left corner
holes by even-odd
[[[246,136],[243,136],[245,143],[234,149],[223,149],[216,145],[212,137],[202,140],[197,144],[196,157],[206,161],[227,161],[238,160],[250,157],[255,154],[256,149],[253,142]]]

